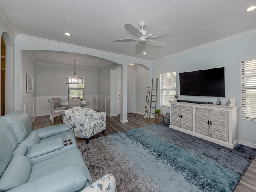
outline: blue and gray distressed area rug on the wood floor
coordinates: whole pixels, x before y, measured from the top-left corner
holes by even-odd
[[[110,173],[117,192],[232,192],[256,155],[154,124],[78,143],[93,180]]]

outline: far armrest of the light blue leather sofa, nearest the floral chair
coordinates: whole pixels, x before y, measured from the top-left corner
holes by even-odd
[[[66,131],[69,131],[70,128],[66,124],[52,125],[40,129],[33,130],[36,132],[40,139],[44,139],[56,134],[60,134]]]

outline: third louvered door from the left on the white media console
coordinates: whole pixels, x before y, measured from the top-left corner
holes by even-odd
[[[210,136],[210,110],[205,108],[195,108],[195,131],[202,135]]]

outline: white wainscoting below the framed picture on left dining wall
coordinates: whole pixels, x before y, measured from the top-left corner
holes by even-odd
[[[29,98],[22,101],[22,110],[24,110],[28,114],[32,122],[36,119],[36,116],[37,116],[36,100],[37,100],[36,98]]]

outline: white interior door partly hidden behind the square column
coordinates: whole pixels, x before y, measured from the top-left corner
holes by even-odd
[[[118,115],[121,114],[121,77],[118,77]],[[127,113],[133,112],[133,78],[127,78]]]

